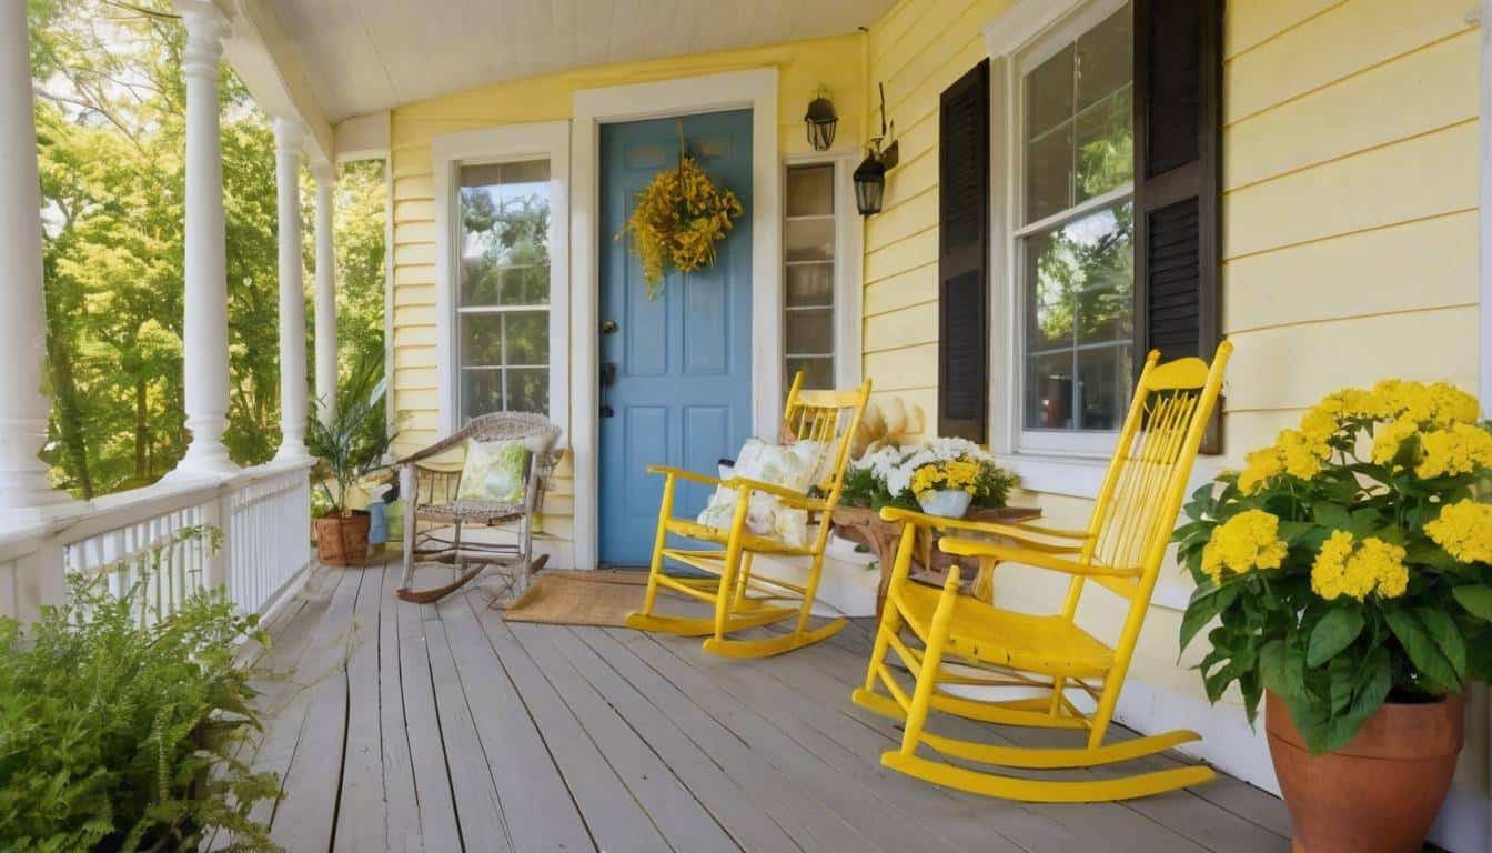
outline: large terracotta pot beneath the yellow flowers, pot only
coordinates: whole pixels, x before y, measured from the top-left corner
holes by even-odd
[[[1279,696],[1265,698],[1270,757],[1297,853],[1417,853],[1461,754],[1462,698],[1388,702],[1337,751],[1313,756]]]

